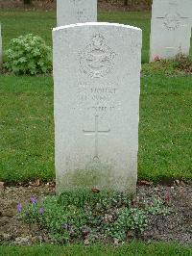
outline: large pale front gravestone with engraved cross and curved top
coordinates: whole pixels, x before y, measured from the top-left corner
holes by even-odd
[[[58,192],[135,192],[141,34],[109,23],[54,29]]]

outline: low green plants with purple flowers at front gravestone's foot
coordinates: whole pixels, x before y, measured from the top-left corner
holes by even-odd
[[[121,192],[64,192],[17,207],[18,217],[36,223],[55,243],[125,242],[129,231],[140,237],[151,215],[169,213],[163,200],[136,198]]]

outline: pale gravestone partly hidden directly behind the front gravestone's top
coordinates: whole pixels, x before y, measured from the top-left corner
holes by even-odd
[[[57,0],[58,26],[97,21],[97,0]]]

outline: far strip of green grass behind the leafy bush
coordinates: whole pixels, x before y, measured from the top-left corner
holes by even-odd
[[[149,61],[150,19],[150,12],[100,12],[98,16],[99,21],[129,24],[143,30],[143,63]],[[52,45],[51,30],[56,26],[55,12],[15,10],[6,12],[3,10],[0,11],[0,21],[2,23],[4,49],[8,48],[10,39],[29,33],[44,38],[49,45]]]

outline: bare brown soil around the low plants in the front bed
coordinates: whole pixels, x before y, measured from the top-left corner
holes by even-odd
[[[27,204],[30,197],[40,197],[55,193],[53,183],[38,186],[39,183],[27,187],[0,186],[0,243],[32,244],[48,243],[45,232],[36,225],[23,224],[16,218],[18,203]],[[192,186],[180,183],[172,187],[157,185],[138,186],[137,196],[158,195],[168,197],[169,216],[155,216],[141,239],[146,242],[179,242],[192,244]],[[132,232],[129,239],[133,239]]]

